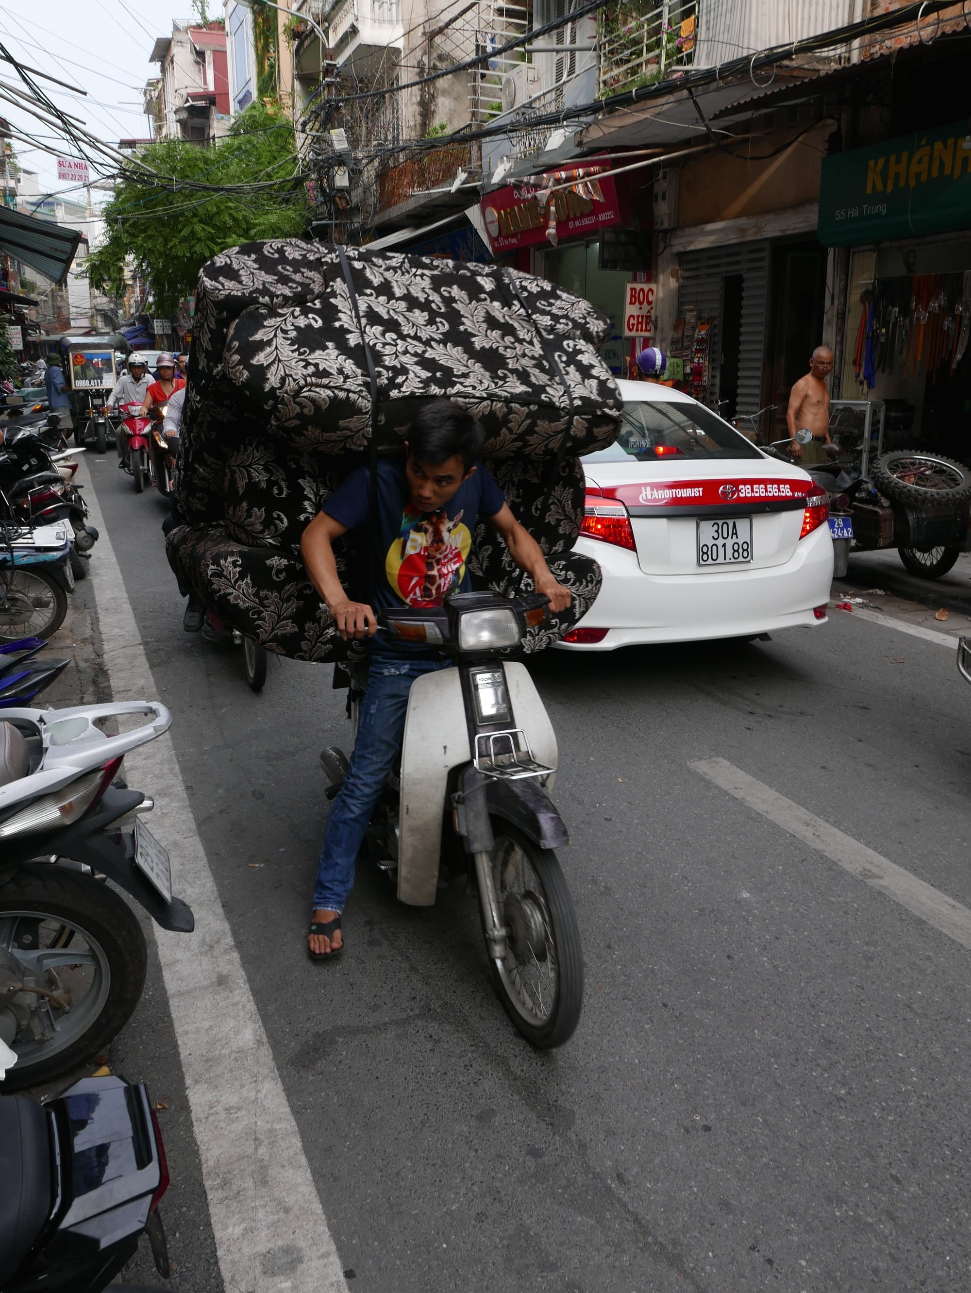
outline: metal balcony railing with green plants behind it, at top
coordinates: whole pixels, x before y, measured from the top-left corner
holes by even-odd
[[[694,58],[697,0],[628,0],[600,10],[599,91],[619,94],[663,80]]]

